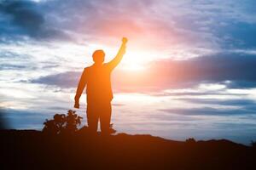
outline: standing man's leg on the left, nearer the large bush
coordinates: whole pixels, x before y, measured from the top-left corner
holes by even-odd
[[[87,124],[90,132],[96,133],[98,129],[99,114],[94,103],[87,102]]]

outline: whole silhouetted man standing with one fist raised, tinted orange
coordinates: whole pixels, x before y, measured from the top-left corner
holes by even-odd
[[[127,38],[123,37],[118,54],[108,63],[104,62],[105,53],[102,49],[92,54],[94,64],[84,68],[75,96],[75,108],[79,109],[79,98],[86,87],[87,94],[87,123],[92,132],[97,131],[98,121],[101,122],[102,133],[110,132],[111,89],[110,76],[113,69],[119,64],[125,54]]]

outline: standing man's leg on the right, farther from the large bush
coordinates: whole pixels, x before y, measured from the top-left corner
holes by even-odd
[[[110,133],[110,121],[111,121],[111,102],[106,102],[102,105],[100,113],[101,131],[104,134]]]

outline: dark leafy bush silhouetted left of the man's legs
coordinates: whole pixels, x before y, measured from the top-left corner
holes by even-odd
[[[55,114],[52,120],[46,119],[43,132],[49,134],[74,133],[78,130],[81,119],[82,117],[72,110],[67,111],[67,115]]]

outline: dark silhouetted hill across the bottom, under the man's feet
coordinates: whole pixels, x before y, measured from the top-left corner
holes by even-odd
[[[150,135],[46,135],[1,130],[1,169],[255,169],[256,150],[229,140]]]

